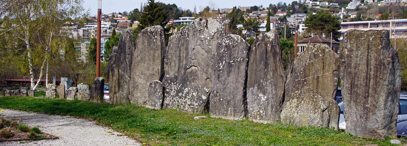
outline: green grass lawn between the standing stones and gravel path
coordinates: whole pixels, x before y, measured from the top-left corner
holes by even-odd
[[[152,110],[137,105],[111,105],[86,101],[0,97],[1,108],[93,118],[153,146],[397,146],[386,140],[367,139],[329,128],[260,124],[221,118],[193,120],[176,110]],[[404,139],[400,141],[405,142]]]

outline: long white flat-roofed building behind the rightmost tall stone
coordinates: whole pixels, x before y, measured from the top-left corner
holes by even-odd
[[[374,20],[374,21],[354,21],[342,22],[342,36],[339,41],[342,41],[344,33],[351,29],[359,30],[389,30],[390,38],[407,38],[407,19],[391,19],[391,20]]]

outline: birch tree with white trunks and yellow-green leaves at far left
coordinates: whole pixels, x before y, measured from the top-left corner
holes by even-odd
[[[35,90],[50,63],[64,60],[63,49],[66,39],[60,31],[68,18],[84,17],[82,0],[35,0],[8,10],[7,19],[2,19],[2,27],[9,30],[8,44],[22,52],[22,68],[28,68],[31,89]],[[1,16],[4,18],[4,14]],[[21,42],[24,45],[15,45]],[[37,78],[38,82],[34,82]]]

